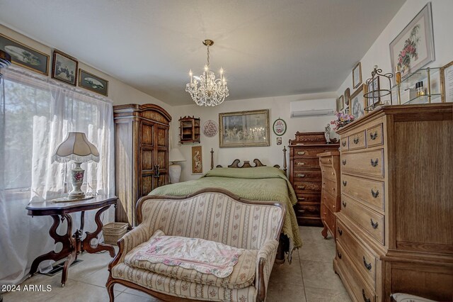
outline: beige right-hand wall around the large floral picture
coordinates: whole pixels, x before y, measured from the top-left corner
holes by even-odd
[[[357,58],[362,64],[362,79],[371,77],[372,68],[378,65],[384,73],[391,72],[389,45],[394,38],[411,22],[417,13],[427,4],[427,0],[408,0],[396,13],[390,23],[369,48],[362,58]],[[435,0],[431,1],[432,26],[434,30],[435,61],[427,67],[442,67],[453,60],[453,1]],[[352,70],[353,66],[351,66]],[[393,84],[393,81],[392,81]],[[338,88],[337,94],[343,94],[345,89],[352,89],[352,73],[345,79],[345,82]],[[388,85],[387,87],[388,88]],[[394,104],[397,100],[393,100]]]

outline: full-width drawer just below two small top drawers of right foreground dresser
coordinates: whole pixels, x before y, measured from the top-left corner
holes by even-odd
[[[340,165],[342,172],[384,177],[384,150],[343,154]]]

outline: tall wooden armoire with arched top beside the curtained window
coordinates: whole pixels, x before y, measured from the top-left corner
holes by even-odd
[[[115,220],[137,225],[135,205],[168,184],[168,128],[171,116],[154,104],[113,106],[115,120]]]

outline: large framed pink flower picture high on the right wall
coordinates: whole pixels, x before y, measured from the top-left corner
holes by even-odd
[[[399,68],[401,79],[435,60],[431,2],[390,43],[393,74]]]

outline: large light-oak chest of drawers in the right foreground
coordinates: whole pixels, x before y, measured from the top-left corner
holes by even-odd
[[[453,299],[453,104],[384,106],[337,131],[333,267],[355,301]]]

